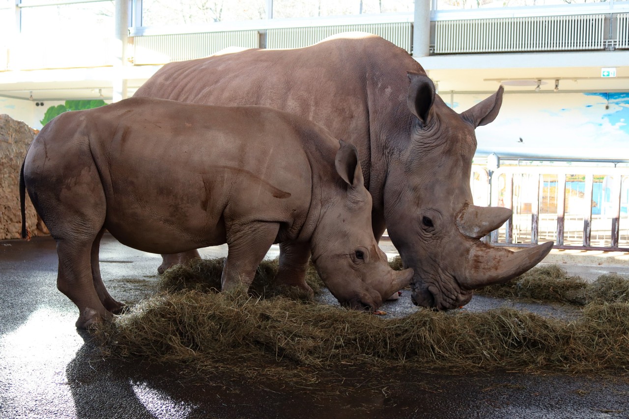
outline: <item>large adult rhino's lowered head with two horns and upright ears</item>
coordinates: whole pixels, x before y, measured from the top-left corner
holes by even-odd
[[[409,137],[389,162],[385,222],[404,267],[415,272],[413,303],[439,310],[467,304],[474,289],[506,282],[542,260],[553,243],[519,252],[479,240],[511,210],[472,203],[474,129],[498,115],[503,87],[458,114],[435,94],[428,77],[408,74]]]

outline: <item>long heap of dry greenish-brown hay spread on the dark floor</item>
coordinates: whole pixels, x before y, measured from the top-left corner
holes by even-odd
[[[261,265],[254,286],[258,291],[253,293],[257,297],[208,292],[220,286],[221,267],[219,259],[167,271],[165,291],[94,330],[105,355],[142,356],[179,362],[198,372],[264,374],[300,383],[312,382],[313,371],[348,366],[369,371],[394,366],[629,370],[629,304],[626,280],[618,276],[601,277],[591,285],[559,286],[552,281],[563,281],[565,272],[553,268],[543,282],[553,284],[547,291],[528,276],[504,286],[537,298],[589,290],[578,301],[592,302],[576,318],[547,318],[513,308],[484,313],[418,309],[404,318],[382,318],[269,292],[277,260]],[[308,281],[317,288],[313,274],[316,277],[309,271]],[[612,302],[602,301],[603,296],[612,296]]]

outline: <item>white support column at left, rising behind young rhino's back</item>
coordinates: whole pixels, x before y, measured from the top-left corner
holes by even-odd
[[[114,102],[126,99],[127,92],[127,79],[125,76],[126,65],[126,45],[129,38],[129,16],[131,9],[130,0],[116,0],[116,16],[115,23],[115,39],[116,46],[114,47],[114,72],[113,72],[113,96]]]

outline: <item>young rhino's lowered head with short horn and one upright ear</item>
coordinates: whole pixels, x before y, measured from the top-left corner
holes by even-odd
[[[408,286],[413,270],[394,271],[378,247],[371,226],[371,196],[353,145],[340,141],[335,168],[340,178],[323,185],[321,192],[312,259],[342,306],[375,311],[384,299]]]

